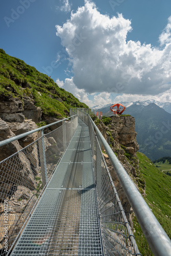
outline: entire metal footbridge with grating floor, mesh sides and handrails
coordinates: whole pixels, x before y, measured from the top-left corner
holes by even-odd
[[[33,143],[0,163],[0,199],[6,205],[0,255],[141,255],[102,145],[154,255],[171,255],[167,234],[90,113],[71,109],[70,118],[0,142],[5,150],[39,132]],[[45,134],[54,124],[61,125]]]

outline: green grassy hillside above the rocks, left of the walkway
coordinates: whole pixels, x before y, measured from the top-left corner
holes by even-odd
[[[55,90],[50,92],[50,90]],[[69,116],[70,108],[88,108],[71,93],[59,88],[53,79],[38,72],[23,60],[11,57],[0,49],[0,95],[33,97],[46,115]],[[57,99],[62,99],[62,102]]]

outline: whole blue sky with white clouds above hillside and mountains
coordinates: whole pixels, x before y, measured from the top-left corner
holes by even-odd
[[[89,106],[171,101],[170,0],[6,0],[0,15],[0,48]]]

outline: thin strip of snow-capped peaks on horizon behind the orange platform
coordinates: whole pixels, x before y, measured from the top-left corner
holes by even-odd
[[[115,102],[115,103],[123,104],[126,107],[126,110],[131,105],[142,106],[142,109],[143,109],[144,106],[147,106],[150,103],[155,103],[156,105],[160,106],[160,108],[164,109],[166,112],[171,114],[171,103],[170,102],[163,103],[163,102],[159,102],[157,100],[151,99],[151,100],[145,100],[145,101],[140,101],[139,100],[139,101],[135,101],[135,102],[131,101],[131,102]],[[99,105],[93,106],[92,109],[97,110],[97,111],[102,111],[103,113],[106,113],[106,112],[110,111],[110,106],[111,105],[112,104],[106,104],[106,105],[99,104]],[[126,114],[126,112],[125,112],[125,114]]]

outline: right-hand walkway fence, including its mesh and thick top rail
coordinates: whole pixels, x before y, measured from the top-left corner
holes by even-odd
[[[96,182],[97,182],[97,194],[99,209],[101,214],[101,223],[103,231],[104,246],[107,255],[130,255],[126,254],[129,247],[129,253],[132,253],[132,248],[130,247],[129,240],[132,241],[132,245],[135,249],[136,255],[139,255],[138,248],[135,243],[134,236],[131,232],[129,223],[127,222],[124,211],[119,201],[118,195],[116,194],[116,189],[113,184],[111,175],[108,168],[106,167],[103,156],[101,156],[101,146],[103,145],[106,154],[114,167],[114,170],[119,178],[122,188],[125,192],[127,199],[129,200],[137,220],[142,228],[144,236],[147,239],[149,246],[151,247],[154,255],[165,256],[171,255],[171,242],[165,233],[164,229],[161,227],[160,223],[153,215],[153,212],[148,207],[143,197],[139,193],[135,184],[126,173],[125,169],[115,156],[108,142],[104,139],[97,126],[90,118],[87,109],[84,110],[74,110],[74,113],[78,113],[78,116],[89,126],[90,133],[95,131],[95,138],[91,137],[91,143],[98,144],[96,146],[96,154],[94,154],[94,167],[96,170]],[[72,113],[72,112],[71,112]],[[91,128],[90,128],[91,127]],[[93,133],[93,132],[92,132]],[[92,148],[93,147],[92,144]],[[98,153],[97,153],[98,151]],[[104,167],[105,166],[105,167]],[[108,175],[106,175],[108,173]],[[111,185],[110,185],[111,182]],[[116,197],[115,197],[116,195]],[[119,212],[119,213],[118,213]],[[127,231],[124,229],[126,227]],[[121,238],[121,239],[120,239]],[[123,240],[122,240],[123,239]],[[125,247],[127,245],[128,247]],[[124,248],[124,249],[123,249]],[[114,252],[115,251],[115,252]],[[123,254],[122,254],[123,253]]]

